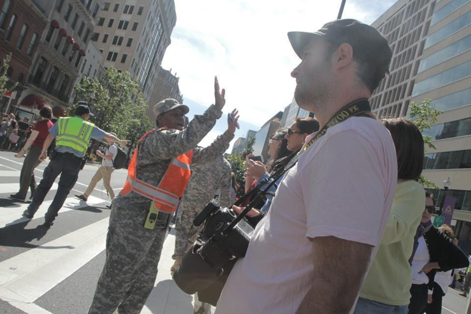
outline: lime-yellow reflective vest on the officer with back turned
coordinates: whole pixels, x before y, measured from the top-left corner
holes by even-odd
[[[85,154],[93,126],[93,123],[77,117],[59,118],[56,146],[68,146]]]

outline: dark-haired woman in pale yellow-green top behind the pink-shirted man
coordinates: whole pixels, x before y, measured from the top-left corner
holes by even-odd
[[[411,297],[410,258],[425,208],[423,138],[412,121],[383,119],[398,156],[398,185],[381,245],[366,276],[354,314],[407,314]]]

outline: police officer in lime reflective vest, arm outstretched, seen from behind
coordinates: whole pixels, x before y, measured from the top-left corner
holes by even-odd
[[[57,212],[64,205],[67,195],[77,181],[81,170],[81,162],[87,152],[90,138],[98,141],[106,139],[108,142],[119,142],[126,145],[126,141],[106,133],[89,122],[90,116],[93,116],[93,113],[90,112],[87,102],[79,101],[73,117],[59,118],[57,123],[49,129],[49,135],[44,141],[39,159],[41,161],[46,159],[49,145],[56,137],[55,152],[51,162],[44,169],[43,178],[34,192],[31,204],[23,212],[24,217],[32,219],[60,174],[57,193],[51,205],[49,205],[42,226],[50,228],[53,225]]]

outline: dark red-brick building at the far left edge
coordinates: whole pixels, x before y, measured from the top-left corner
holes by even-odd
[[[11,53],[7,71],[9,85],[18,82],[14,93],[16,97],[11,101],[7,97],[0,100],[0,111],[3,112],[8,110],[8,105],[10,109],[17,105],[25,89],[24,83],[33,64],[39,39],[49,21],[43,9],[31,0],[0,0],[0,8],[0,59]]]

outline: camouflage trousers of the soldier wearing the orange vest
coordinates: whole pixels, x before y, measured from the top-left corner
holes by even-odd
[[[159,212],[144,228],[150,201],[121,207],[114,199],[106,237],[106,261],[89,314],[138,314],[154,288],[170,214]]]

